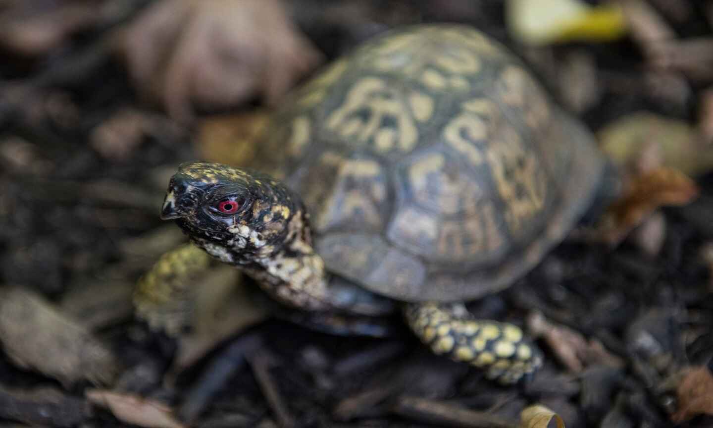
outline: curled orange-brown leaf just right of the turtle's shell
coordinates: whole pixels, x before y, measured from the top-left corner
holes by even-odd
[[[672,168],[657,168],[637,175],[602,215],[595,238],[617,245],[658,208],[686,205],[698,193],[693,180]]]

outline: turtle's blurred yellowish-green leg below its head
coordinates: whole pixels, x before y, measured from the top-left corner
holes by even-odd
[[[152,330],[178,335],[190,324],[195,278],[205,272],[211,257],[192,244],[181,245],[162,255],[139,278],[134,290],[135,315]]]

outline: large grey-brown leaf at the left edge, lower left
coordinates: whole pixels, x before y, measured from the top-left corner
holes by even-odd
[[[0,343],[16,365],[66,386],[86,379],[111,382],[117,362],[78,322],[39,295],[20,288],[0,292]]]

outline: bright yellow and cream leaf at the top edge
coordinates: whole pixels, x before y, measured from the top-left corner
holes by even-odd
[[[506,8],[508,29],[523,44],[610,41],[626,31],[620,8],[611,4],[590,6],[580,0],[510,0]]]

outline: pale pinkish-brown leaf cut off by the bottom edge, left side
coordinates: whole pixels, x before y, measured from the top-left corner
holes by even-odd
[[[160,402],[107,389],[89,389],[86,397],[93,404],[109,409],[127,424],[148,428],[186,427],[173,416],[173,409]]]

